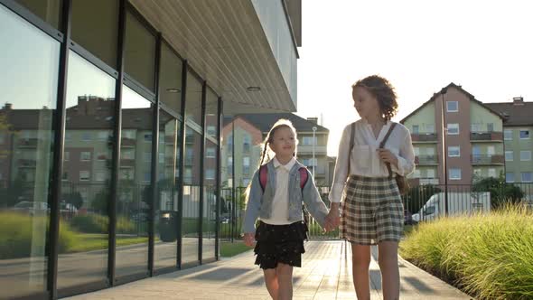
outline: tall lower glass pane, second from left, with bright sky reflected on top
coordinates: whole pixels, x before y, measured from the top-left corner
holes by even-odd
[[[84,220],[108,222],[109,181],[96,181],[100,178],[110,178],[111,164],[89,164],[94,153],[110,153],[112,144],[108,140],[99,140],[100,131],[111,132],[114,121],[102,121],[115,112],[115,79],[96,66],[80,57],[75,52],[69,53],[69,72],[67,79],[66,111],[68,121],[65,130],[73,137],[68,143],[71,155],[69,164],[64,164],[64,172],[72,174],[70,181],[62,183],[63,194],[68,194],[79,203],[80,211],[87,211],[83,217],[73,216]],[[87,96],[90,95],[90,96]],[[98,109],[99,108],[99,109]],[[79,157],[79,158],[78,158]],[[89,160],[88,160],[89,159]],[[95,174],[98,173],[98,178]],[[93,181],[92,183],[89,183]],[[73,200],[73,201],[74,201]],[[76,202],[75,202],[76,203]],[[67,216],[61,215],[66,219]],[[66,220],[65,220],[66,221]],[[94,242],[94,233],[98,239],[108,240],[108,229],[104,226],[98,232],[89,227],[77,228],[79,243]],[[62,230],[60,231],[60,239]],[[101,243],[98,248],[104,250],[107,243]],[[87,251],[79,251],[69,256],[61,256],[58,260],[58,288],[80,286],[96,280],[106,280],[108,277],[108,253],[102,252],[98,256],[88,256]],[[71,270],[79,270],[79,274],[91,276],[72,277]]]

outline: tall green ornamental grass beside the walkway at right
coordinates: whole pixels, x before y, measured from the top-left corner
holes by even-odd
[[[400,255],[482,299],[533,298],[533,214],[518,206],[420,223]]]

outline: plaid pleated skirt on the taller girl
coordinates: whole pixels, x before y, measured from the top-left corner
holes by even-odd
[[[394,178],[351,175],[341,208],[341,239],[359,245],[399,241],[404,207]]]

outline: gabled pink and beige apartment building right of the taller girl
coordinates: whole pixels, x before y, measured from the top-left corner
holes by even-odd
[[[471,184],[505,171],[503,117],[453,82],[400,121],[415,148],[414,183]]]

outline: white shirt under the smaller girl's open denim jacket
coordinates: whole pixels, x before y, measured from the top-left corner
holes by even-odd
[[[287,164],[281,164],[274,157],[274,167],[276,168],[276,193],[272,199],[272,214],[268,219],[261,219],[266,224],[285,225],[289,221],[289,172],[296,163],[295,157]]]

